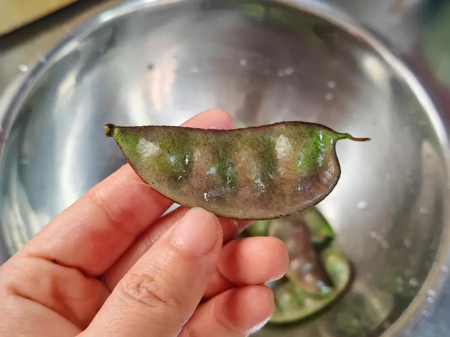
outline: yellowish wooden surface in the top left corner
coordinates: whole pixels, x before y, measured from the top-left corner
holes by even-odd
[[[0,0],[0,36],[77,0]]]

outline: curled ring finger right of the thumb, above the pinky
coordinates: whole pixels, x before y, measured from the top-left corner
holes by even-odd
[[[227,243],[204,298],[236,286],[262,285],[280,279],[289,266],[284,243],[272,237],[237,239]]]

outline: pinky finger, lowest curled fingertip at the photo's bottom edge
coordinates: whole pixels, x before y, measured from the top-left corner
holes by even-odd
[[[178,337],[245,337],[267,323],[273,306],[268,287],[233,288],[198,306]]]

